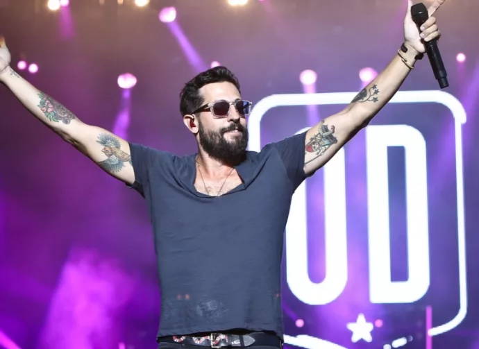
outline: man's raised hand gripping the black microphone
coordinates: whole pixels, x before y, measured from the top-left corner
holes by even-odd
[[[407,14],[404,19],[404,43],[408,48],[417,51],[417,53],[425,53],[426,47],[423,42],[441,37],[441,32],[437,28],[436,17],[432,15],[445,2],[446,0],[435,0],[431,3],[428,7],[429,19],[424,22],[419,31],[411,16],[412,0],[407,1]]]

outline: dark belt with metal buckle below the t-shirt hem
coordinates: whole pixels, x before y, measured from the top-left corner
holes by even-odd
[[[275,334],[251,332],[248,334],[210,333],[201,337],[168,336],[159,337],[158,343],[181,343],[190,346],[205,346],[210,348],[243,347],[243,346],[276,346],[281,348],[283,342]]]

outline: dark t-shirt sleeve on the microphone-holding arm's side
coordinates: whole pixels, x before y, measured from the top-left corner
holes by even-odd
[[[308,177],[304,171],[305,139],[306,131],[269,144],[269,146],[276,148],[281,160],[283,160],[287,176],[291,180],[294,190]]]

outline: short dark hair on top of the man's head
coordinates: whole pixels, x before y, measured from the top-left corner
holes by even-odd
[[[186,114],[191,114],[194,110],[203,105],[204,100],[199,89],[211,83],[232,83],[240,91],[240,83],[233,74],[226,67],[215,67],[203,71],[196,75],[192,80],[188,81],[183,90],[180,92],[180,112],[184,117]],[[240,91],[241,92],[241,91]]]

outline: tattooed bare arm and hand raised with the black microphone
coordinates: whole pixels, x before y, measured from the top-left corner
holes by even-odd
[[[428,8],[432,14],[446,0],[435,0]],[[417,56],[426,51],[424,41],[439,38],[435,17],[430,17],[421,27],[421,35],[412,21],[408,1],[404,21],[405,51],[402,49],[394,56],[392,62],[365,87],[351,103],[341,112],[327,117],[318,125],[310,128],[305,140],[305,173],[314,173],[328,162],[339,148],[356,135],[369,121],[378,114],[384,105],[396,94],[403,81],[414,68]]]

